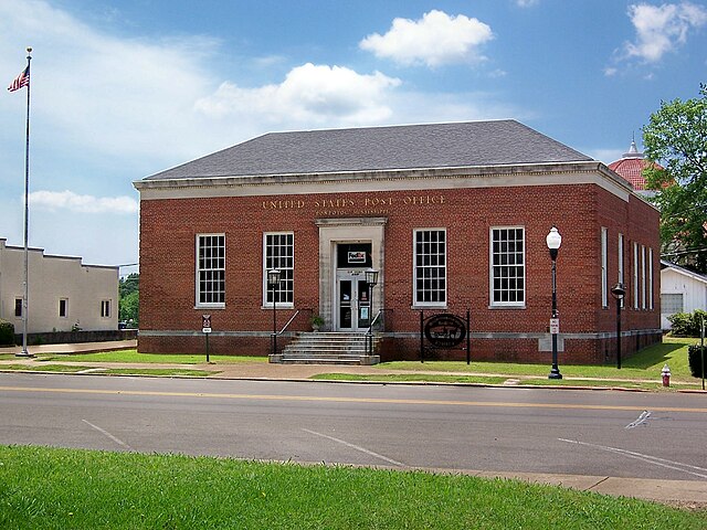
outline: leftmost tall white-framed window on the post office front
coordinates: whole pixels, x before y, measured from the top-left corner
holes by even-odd
[[[197,306],[225,305],[225,235],[197,235]]]

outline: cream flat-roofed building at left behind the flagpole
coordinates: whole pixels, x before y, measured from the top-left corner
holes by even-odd
[[[28,332],[118,329],[118,267],[29,253]],[[0,319],[22,332],[24,248],[0,239]]]

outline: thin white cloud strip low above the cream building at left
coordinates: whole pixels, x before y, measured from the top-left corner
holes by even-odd
[[[135,214],[138,211],[138,203],[131,197],[80,195],[68,190],[34,191],[30,193],[30,206],[99,214]]]

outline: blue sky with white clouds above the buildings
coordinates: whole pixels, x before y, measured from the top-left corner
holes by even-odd
[[[0,0],[6,86],[28,45],[30,244],[122,265],[135,180],[268,131],[514,118],[609,163],[698,96],[707,4]],[[25,92],[2,92],[0,237],[22,245]]]

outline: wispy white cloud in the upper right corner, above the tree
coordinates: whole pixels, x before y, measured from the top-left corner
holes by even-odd
[[[636,30],[636,41],[624,45],[624,56],[656,63],[684,44],[689,31],[707,23],[707,9],[690,2],[639,3],[629,7],[629,17]]]

